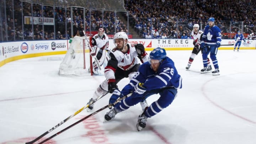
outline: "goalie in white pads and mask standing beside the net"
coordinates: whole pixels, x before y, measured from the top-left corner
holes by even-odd
[[[99,28],[98,30],[98,34],[95,34],[92,37],[92,41],[91,41],[91,45],[92,45],[92,51],[90,52],[90,55],[92,57],[96,57],[98,60],[98,64],[97,62],[93,62],[92,66],[93,66],[93,73],[95,75],[98,75],[99,72],[98,70],[101,68],[98,68],[98,65],[102,66],[103,68],[105,68],[105,66],[107,65],[107,62],[109,60],[109,56],[108,56],[108,36],[105,33],[103,28]]]

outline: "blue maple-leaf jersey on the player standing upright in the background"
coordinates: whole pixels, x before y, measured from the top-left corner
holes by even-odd
[[[218,26],[213,25],[213,27],[210,27],[207,25],[204,28],[202,42],[205,42],[208,45],[216,45],[217,42],[221,43],[221,41],[221,31]]]

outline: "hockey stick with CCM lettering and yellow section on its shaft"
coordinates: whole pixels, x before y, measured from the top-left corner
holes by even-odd
[[[59,127],[60,125],[62,125],[63,123],[65,123],[66,121],[68,121],[70,118],[74,117],[76,114],[80,113],[81,111],[83,111],[85,108],[89,107],[90,105],[92,105],[93,103],[95,103],[97,100],[101,99],[103,96],[107,95],[108,91],[104,94],[102,94],[101,96],[97,97],[95,100],[93,100],[91,103],[88,103],[86,106],[82,107],[80,110],[76,111],[74,114],[72,114],[71,116],[67,117],[66,119],[64,119],[62,122],[58,123],[55,127],[52,127],[51,129],[49,129],[47,132],[41,134],[39,137],[37,137],[36,139],[27,142],[27,143],[12,143],[9,142],[7,144],[33,144],[35,143],[37,140],[41,139],[44,135],[47,135],[48,133],[52,132],[54,129],[56,129],[57,127]]]

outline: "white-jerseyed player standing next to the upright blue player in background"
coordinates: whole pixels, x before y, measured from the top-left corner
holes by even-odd
[[[196,57],[196,55],[200,51],[202,53],[202,48],[200,47],[200,41],[202,39],[201,38],[202,34],[203,34],[203,31],[199,30],[199,25],[194,24],[193,30],[191,31],[191,36],[194,38],[194,41],[193,41],[194,48],[192,50],[190,58],[188,59],[188,65],[186,66],[186,70],[190,69],[190,66],[191,66],[194,58]],[[212,70],[212,66],[210,64],[209,58],[207,58],[207,71],[211,71],[211,70]]]

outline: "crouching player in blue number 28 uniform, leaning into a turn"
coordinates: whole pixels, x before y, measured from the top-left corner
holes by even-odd
[[[151,103],[139,115],[136,126],[140,131],[146,127],[147,118],[153,117],[172,103],[177,95],[177,89],[182,88],[182,78],[178,74],[174,62],[166,57],[165,49],[155,48],[149,57],[149,62],[140,66],[137,74],[122,91],[114,90],[110,103],[114,103],[118,97],[123,97],[130,92],[133,92],[133,94],[114,105],[114,108],[106,113],[106,121],[110,121],[118,112],[127,110],[147,97],[159,94],[158,100]]]

